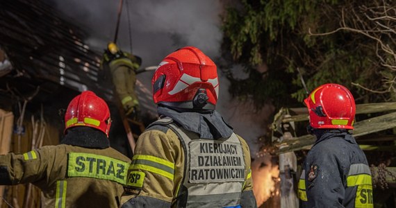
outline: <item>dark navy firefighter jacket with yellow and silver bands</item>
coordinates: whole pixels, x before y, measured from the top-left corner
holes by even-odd
[[[373,207],[367,159],[349,132],[331,130],[308,152],[299,180],[301,207]]]

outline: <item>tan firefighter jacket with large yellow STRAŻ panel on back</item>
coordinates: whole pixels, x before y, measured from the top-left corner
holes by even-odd
[[[130,162],[113,148],[44,146],[0,155],[0,184],[31,182],[42,207],[118,207]]]

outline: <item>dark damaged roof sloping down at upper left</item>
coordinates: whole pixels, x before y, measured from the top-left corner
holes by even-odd
[[[49,91],[49,82],[90,89],[110,100],[112,88],[98,82],[101,54],[83,42],[88,35],[72,22],[42,1],[0,1],[0,47],[13,64],[13,77]]]

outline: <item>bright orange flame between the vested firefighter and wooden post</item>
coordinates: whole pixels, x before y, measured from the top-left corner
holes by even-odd
[[[251,177],[257,207],[263,205],[270,197],[279,195],[279,190],[275,190],[275,182],[280,180],[279,168],[278,165],[272,165],[270,155],[257,157],[251,163]]]

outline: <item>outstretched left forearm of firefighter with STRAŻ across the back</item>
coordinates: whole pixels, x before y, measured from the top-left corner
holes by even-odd
[[[46,173],[47,159],[43,150],[31,150],[23,154],[0,155],[0,185],[15,185],[41,180]]]

